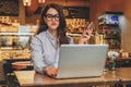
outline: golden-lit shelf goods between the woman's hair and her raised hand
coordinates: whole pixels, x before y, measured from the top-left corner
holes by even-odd
[[[79,42],[80,36],[83,34],[90,22],[86,18],[67,18],[67,35],[71,36],[75,44]]]

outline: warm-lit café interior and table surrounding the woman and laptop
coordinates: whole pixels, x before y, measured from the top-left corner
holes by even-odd
[[[131,87],[131,0],[0,0],[0,87]],[[55,79],[34,71],[29,44],[48,3],[62,7],[67,35],[109,45],[100,77]],[[111,55],[115,57],[114,62]]]

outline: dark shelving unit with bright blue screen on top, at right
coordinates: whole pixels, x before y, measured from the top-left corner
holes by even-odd
[[[120,49],[121,29],[119,27],[119,14],[104,14],[98,17],[99,33],[105,35],[106,44],[110,49]]]

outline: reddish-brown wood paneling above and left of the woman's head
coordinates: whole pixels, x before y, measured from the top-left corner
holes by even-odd
[[[52,2],[58,3],[58,4],[62,5],[62,7],[90,7],[88,0],[46,0],[46,2],[43,3],[43,4],[38,4],[38,2],[36,0],[34,0],[34,2],[35,2],[35,7],[33,7],[33,4],[34,4],[33,3],[31,7],[26,8],[26,11],[28,11],[27,12],[28,16],[26,15],[26,23],[27,24],[36,24],[35,21],[39,20],[40,14],[34,14],[34,11],[35,11],[36,7],[37,8],[38,7],[43,8],[46,4],[52,3]]]

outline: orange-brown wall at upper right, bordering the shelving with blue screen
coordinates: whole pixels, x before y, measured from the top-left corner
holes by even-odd
[[[121,34],[121,49],[131,52],[131,0],[91,0],[91,20],[96,22],[97,17],[105,13],[105,11],[110,12],[123,12],[122,20],[122,34]],[[94,20],[95,17],[95,20]]]

